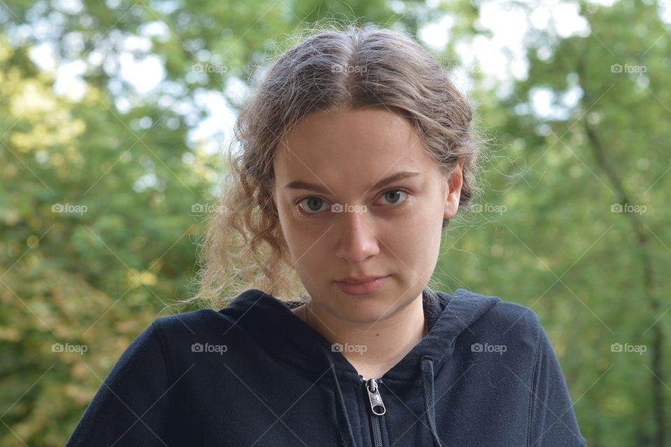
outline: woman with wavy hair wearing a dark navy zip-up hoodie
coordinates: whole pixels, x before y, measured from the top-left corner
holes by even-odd
[[[428,288],[475,193],[471,119],[394,31],[282,54],[236,124],[210,309],[140,334],[68,446],[585,446],[536,314]]]

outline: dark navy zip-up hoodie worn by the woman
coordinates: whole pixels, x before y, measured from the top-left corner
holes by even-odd
[[[66,447],[586,446],[535,312],[464,289],[422,299],[428,335],[370,380],[289,310],[303,301],[250,289],[157,318]]]

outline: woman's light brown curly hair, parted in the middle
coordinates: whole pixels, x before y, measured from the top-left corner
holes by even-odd
[[[460,208],[479,192],[481,145],[471,106],[424,47],[375,25],[301,31],[307,38],[280,54],[240,110],[234,128],[240,149],[224,155],[229,172],[217,212],[208,217],[199,291],[182,303],[203,300],[222,309],[249,288],[282,300],[305,295],[271,194],[275,149],[311,112],[363,106],[398,112],[410,119],[442,173],[463,163]],[[442,227],[447,223],[443,219]]]

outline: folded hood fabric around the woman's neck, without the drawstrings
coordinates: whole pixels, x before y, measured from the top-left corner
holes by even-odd
[[[454,295],[425,289],[422,302],[428,318],[428,334],[382,379],[419,380],[423,358],[431,358],[432,373],[438,374],[442,362],[454,351],[456,337],[470,330],[468,326],[499,301],[498,297],[479,295],[463,288],[457,289]],[[232,309],[236,314],[237,325],[256,337],[271,356],[293,367],[298,374],[312,377],[323,374],[326,365],[315,359],[322,359],[325,350],[332,354],[333,368],[342,379],[358,383],[361,378],[347,358],[333,351],[329,340],[291,312],[291,308],[303,302],[305,300],[285,302],[252,288],[240,293],[229,305],[229,311]]]

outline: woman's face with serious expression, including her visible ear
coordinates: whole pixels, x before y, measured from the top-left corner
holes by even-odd
[[[314,112],[284,136],[273,167],[282,233],[316,305],[366,323],[421,296],[442,219],[459,207],[461,167],[442,175],[407,119],[385,108]],[[363,295],[335,282],[362,276],[387,278]]]

